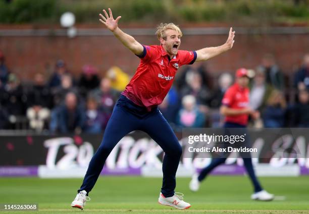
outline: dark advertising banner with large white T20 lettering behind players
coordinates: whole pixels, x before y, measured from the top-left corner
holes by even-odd
[[[219,143],[216,136],[220,134],[222,130],[214,129],[184,129],[182,133],[176,133],[183,147],[178,176],[191,176],[195,171],[207,167],[212,158],[223,157],[222,152],[216,150],[207,152],[207,148],[213,149]],[[246,135],[250,142],[246,146],[251,148],[248,152],[258,175],[309,174],[309,132],[304,129],[263,129],[246,130]],[[230,146],[230,138],[231,134],[226,142],[221,143]],[[0,136],[0,139],[1,177],[72,178],[84,176],[102,135],[20,135]],[[224,137],[217,137],[217,140],[222,139],[224,141]],[[233,137],[235,139],[241,141],[241,137]],[[236,149],[243,147],[241,142],[235,141],[233,144]],[[241,152],[233,149],[228,153],[223,152],[224,158],[227,157],[225,165],[217,168],[213,174],[244,174]],[[163,157],[164,152],[155,141],[146,133],[135,131],[119,141],[101,175],[161,176]]]

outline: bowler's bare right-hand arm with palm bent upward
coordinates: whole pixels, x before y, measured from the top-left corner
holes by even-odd
[[[229,37],[223,45],[217,47],[205,47],[200,50],[196,50],[197,56],[195,62],[209,60],[231,49],[234,44],[234,36],[235,31],[232,31],[232,28],[230,28]]]

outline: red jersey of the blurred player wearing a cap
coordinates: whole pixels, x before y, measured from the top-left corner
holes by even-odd
[[[249,88],[240,87],[237,83],[227,89],[222,99],[222,104],[232,109],[244,109],[249,106]],[[247,125],[248,114],[226,116],[225,122]]]

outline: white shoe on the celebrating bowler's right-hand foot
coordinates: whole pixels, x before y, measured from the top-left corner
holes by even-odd
[[[164,197],[164,195],[160,193],[159,203],[162,205],[172,206],[176,209],[187,209],[191,206],[191,204],[183,201],[183,194],[180,192],[175,192],[172,197]]]

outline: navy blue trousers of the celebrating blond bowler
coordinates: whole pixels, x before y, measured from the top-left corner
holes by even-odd
[[[88,193],[91,191],[113,148],[121,138],[134,130],[146,132],[165,152],[161,192],[165,197],[174,195],[176,187],[175,175],[182,154],[182,147],[174,131],[160,113],[158,107],[153,108],[151,112],[147,112],[145,108],[134,104],[123,95],[116,102],[103,140],[91,158],[78,192],[85,190]]]

